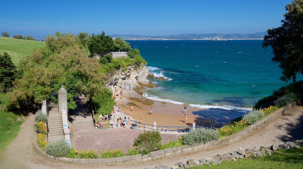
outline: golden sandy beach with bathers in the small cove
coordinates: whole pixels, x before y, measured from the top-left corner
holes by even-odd
[[[201,115],[193,114],[203,110],[203,108],[191,107],[189,105],[172,104],[169,102],[154,101],[153,105],[144,105],[138,101],[134,101],[125,97],[128,91],[123,91],[124,98],[116,98],[116,105],[121,108],[125,114],[131,115],[135,121],[140,121],[142,118],[142,123],[153,125],[156,122],[157,126],[172,126],[172,127],[189,127],[195,123],[196,126],[218,124],[215,121],[201,117]],[[126,104],[127,99],[130,103]],[[134,110],[131,111],[131,105],[133,105]],[[184,106],[187,107],[186,112],[184,111]],[[153,114],[150,114],[150,108],[153,108]],[[187,115],[188,120],[185,123],[184,115]],[[221,126],[222,127],[222,126]],[[163,128],[163,127],[160,127]]]

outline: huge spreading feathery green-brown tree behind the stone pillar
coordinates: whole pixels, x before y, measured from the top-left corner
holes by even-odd
[[[15,81],[11,92],[2,95],[0,102],[5,104],[4,109],[19,108],[25,103],[39,104],[62,85],[67,89],[68,108],[71,109],[75,108],[72,96],[85,93],[90,100],[106,90],[97,59],[88,57],[76,36],[56,35],[46,37],[43,48],[34,50],[20,62],[23,76]]]

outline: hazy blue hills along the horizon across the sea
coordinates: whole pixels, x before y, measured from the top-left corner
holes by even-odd
[[[263,39],[267,32],[257,32],[254,34],[179,34],[165,36],[144,36],[144,35],[111,35],[113,38],[122,38],[123,40],[194,40],[194,39]]]

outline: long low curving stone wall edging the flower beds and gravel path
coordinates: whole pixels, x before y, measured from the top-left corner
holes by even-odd
[[[207,143],[201,144],[201,145],[198,145],[198,146],[183,145],[181,147],[172,147],[172,148],[168,148],[168,149],[164,149],[164,150],[158,150],[158,151],[151,152],[150,155],[138,154],[138,155],[132,155],[132,156],[105,158],[105,159],[103,159],[103,158],[98,158],[98,159],[72,159],[72,158],[60,157],[60,158],[58,158],[58,160],[67,161],[67,162],[71,161],[73,163],[104,163],[104,164],[112,164],[114,162],[115,163],[120,163],[120,162],[122,163],[122,162],[125,162],[125,161],[142,162],[142,161],[148,161],[148,160],[155,160],[155,159],[159,159],[161,157],[175,155],[175,154],[192,153],[192,152],[195,152],[195,151],[205,150],[205,149],[209,149],[209,148],[213,148],[213,147],[220,147],[220,146],[223,146],[225,144],[232,144],[236,141],[241,141],[242,138],[245,138],[247,135],[252,134],[257,128],[263,127],[269,121],[274,120],[278,116],[284,114],[285,112],[287,112],[291,108],[298,105],[298,103],[300,103],[300,101],[301,100],[299,99],[299,100],[297,100],[297,101],[295,101],[291,104],[288,104],[288,105],[284,106],[283,108],[280,108],[279,110],[267,115],[262,120],[256,122],[255,124],[246,127],[242,131],[239,131],[237,134],[228,136],[227,138],[218,139],[216,141],[208,141]],[[36,135],[35,135],[35,137],[36,137]],[[38,152],[40,152],[41,154],[43,154],[47,157],[51,157],[51,156],[47,155],[45,153],[45,151],[41,150],[41,148],[36,143],[36,139],[34,139],[34,145],[35,145],[35,148]],[[53,158],[53,157],[51,157],[51,158]]]

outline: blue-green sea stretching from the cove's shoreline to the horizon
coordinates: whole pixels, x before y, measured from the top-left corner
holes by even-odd
[[[279,79],[281,69],[262,40],[127,42],[140,51],[151,74],[167,78],[150,78],[158,87],[146,89],[145,97],[207,108],[203,116],[239,117],[288,84]]]

